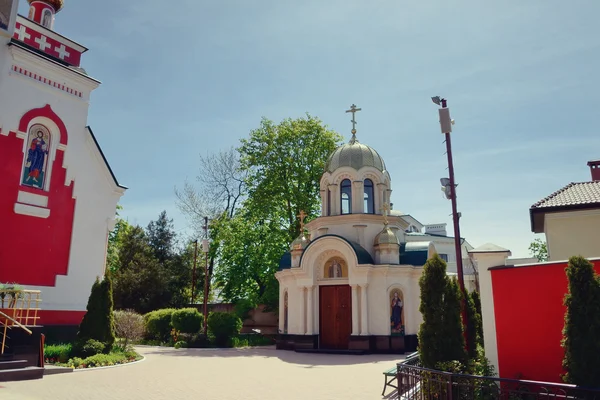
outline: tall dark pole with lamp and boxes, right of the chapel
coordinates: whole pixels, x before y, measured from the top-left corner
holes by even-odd
[[[448,108],[448,102],[446,99],[442,99],[439,96],[432,97],[431,100],[441,106],[439,109],[440,114],[440,126],[442,128],[442,133],[446,137],[446,154],[448,156],[448,178],[450,180],[450,201],[452,202],[452,223],[454,225],[454,250],[456,252],[456,273],[458,275],[458,285],[460,287],[460,292],[462,294],[462,316],[465,325],[465,343],[467,345],[467,349],[469,348],[469,343],[467,342],[466,336],[466,327],[469,323],[467,319],[466,313],[466,290],[465,290],[465,278],[463,274],[463,264],[462,264],[462,246],[460,240],[460,214],[457,210],[456,206],[456,181],[454,179],[454,162],[452,160],[452,142],[450,140],[450,132],[452,132],[452,124],[453,120],[450,118],[450,109]]]

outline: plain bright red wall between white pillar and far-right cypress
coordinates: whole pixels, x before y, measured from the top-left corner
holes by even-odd
[[[600,273],[600,260],[592,261]],[[492,270],[502,378],[562,382],[566,262]]]

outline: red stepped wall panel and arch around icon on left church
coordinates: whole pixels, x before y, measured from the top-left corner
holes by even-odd
[[[61,143],[66,143],[64,124],[49,107],[32,111],[24,120],[40,115],[53,119],[61,129]],[[21,186],[23,139],[14,132],[0,135],[0,282],[54,286],[57,275],[67,274],[75,199],[73,185],[65,186],[63,157],[57,150],[49,192]],[[19,190],[48,196],[50,216],[16,214]]]

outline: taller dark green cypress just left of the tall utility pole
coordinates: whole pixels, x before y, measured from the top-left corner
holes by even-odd
[[[419,356],[425,368],[435,368],[438,362],[444,361],[444,343],[440,333],[444,331],[444,295],[447,285],[446,263],[435,254],[425,263],[419,279],[419,311],[423,316],[418,334]]]

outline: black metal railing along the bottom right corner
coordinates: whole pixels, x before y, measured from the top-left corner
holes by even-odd
[[[398,399],[600,400],[600,389],[575,385],[454,374],[421,366],[418,354],[398,364]]]

